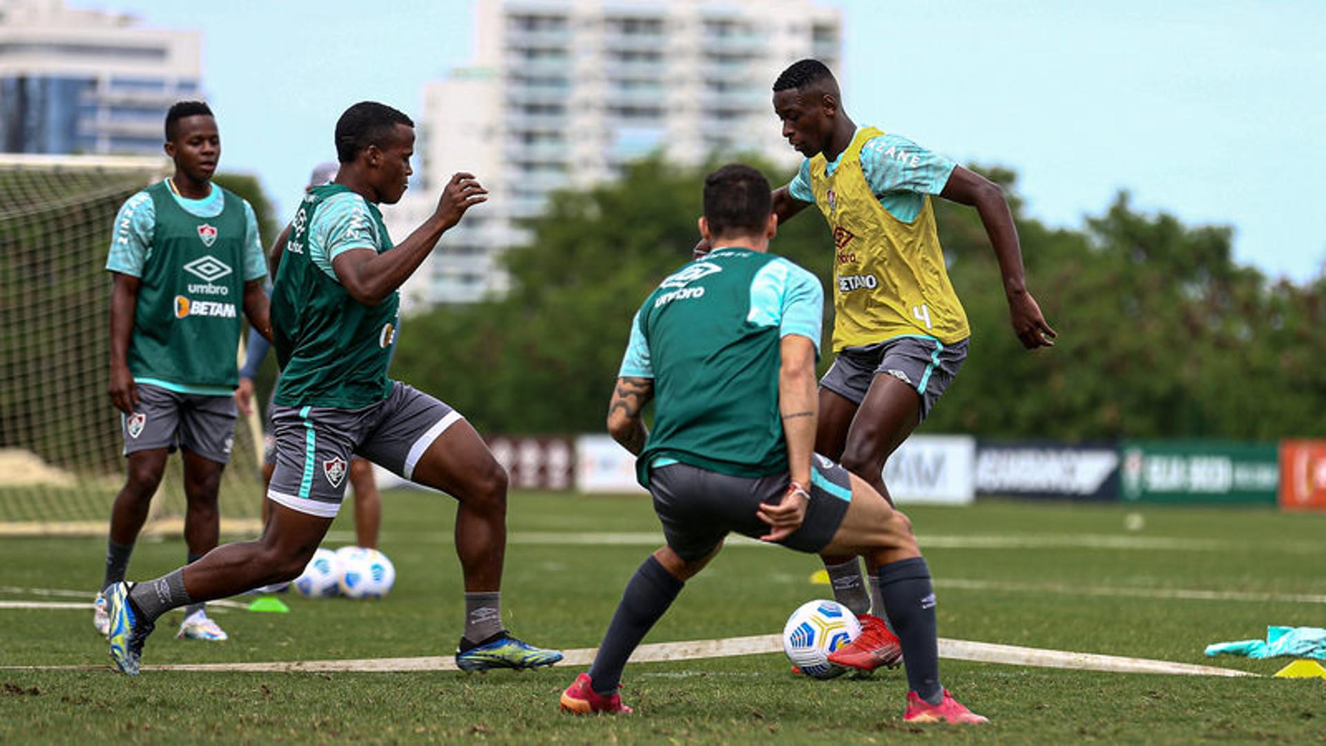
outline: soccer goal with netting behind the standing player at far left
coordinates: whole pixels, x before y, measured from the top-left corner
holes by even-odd
[[[106,254],[119,206],[168,166],[0,154],[0,536],[107,531],[125,459],[106,394]],[[225,532],[260,528],[260,433],[256,421],[236,423],[220,490]],[[178,531],[183,515],[172,457],[145,531]]]

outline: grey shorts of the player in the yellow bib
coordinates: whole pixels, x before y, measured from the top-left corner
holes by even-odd
[[[944,396],[967,360],[967,340],[944,344],[935,337],[894,337],[873,345],[843,348],[819,385],[861,406],[875,376],[887,373],[920,394],[920,418]]]

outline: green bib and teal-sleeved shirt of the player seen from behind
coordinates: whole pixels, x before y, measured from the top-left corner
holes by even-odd
[[[781,258],[723,247],[668,276],[631,323],[621,377],[654,378],[654,429],[636,459],[683,462],[732,477],[788,469],[778,413],[780,342],[819,350],[823,291]]]

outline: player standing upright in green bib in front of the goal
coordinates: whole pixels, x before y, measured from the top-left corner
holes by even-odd
[[[166,154],[175,173],[135,194],[115,216],[106,269],[110,301],[110,401],[121,411],[125,486],[110,514],[97,632],[110,632],[105,588],[125,579],[147,508],[176,447],[184,462],[188,560],[216,547],[216,494],[231,458],[240,312],[271,337],[267,268],[248,202],[212,183],[221,141],[207,104],[182,101],[166,114]],[[225,640],[202,603],[180,637]]]

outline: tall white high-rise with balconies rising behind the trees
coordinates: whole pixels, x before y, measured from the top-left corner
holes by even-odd
[[[430,84],[422,187],[387,212],[392,234],[434,208],[453,171],[491,190],[407,283],[407,308],[507,288],[496,259],[549,191],[614,178],[651,151],[800,157],[780,137],[772,85],[790,62],[839,68],[837,8],[812,0],[479,0],[473,64]]]

